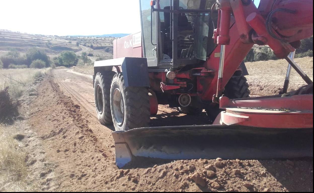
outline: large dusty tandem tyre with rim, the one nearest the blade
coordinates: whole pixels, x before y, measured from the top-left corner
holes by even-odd
[[[110,106],[116,131],[149,126],[148,90],[145,87],[125,87],[122,73],[112,78]]]

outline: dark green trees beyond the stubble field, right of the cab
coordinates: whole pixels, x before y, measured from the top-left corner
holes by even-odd
[[[295,49],[295,58],[303,57],[313,57],[313,37],[306,38],[301,40],[300,48]],[[256,51],[251,49],[246,55],[244,62],[253,62],[253,61],[266,61],[266,60],[277,60],[278,58],[273,53],[273,50],[264,47],[261,50]]]

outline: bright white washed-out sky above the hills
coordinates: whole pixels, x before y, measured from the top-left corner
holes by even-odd
[[[141,31],[138,2],[1,0],[0,29],[59,36],[137,33]]]

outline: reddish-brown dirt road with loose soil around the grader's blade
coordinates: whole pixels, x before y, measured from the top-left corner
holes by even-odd
[[[38,91],[28,123],[53,163],[52,170],[39,176],[41,190],[313,191],[312,159],[155,160],[118,169],[113,127],[99,124],[95,117],[91,76],[55,69]],[[205,115],[159,108],[152,126],[208,123]]]

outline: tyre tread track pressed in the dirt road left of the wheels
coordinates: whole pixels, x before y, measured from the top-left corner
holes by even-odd
[[[95,114],[95,103],[92,103],[84,98],[82,94],[78,93],[75,89],[72,89],[71,86],[69,86],[68,84],[64,84],[61,79],[56,78],[55,80],[57,84],[62,86],[68,92],[68,94],[73,96],[73,98],[80,104],[81,107],[83,107],[87,112],[92,114],[93,117],[97,118]]]

